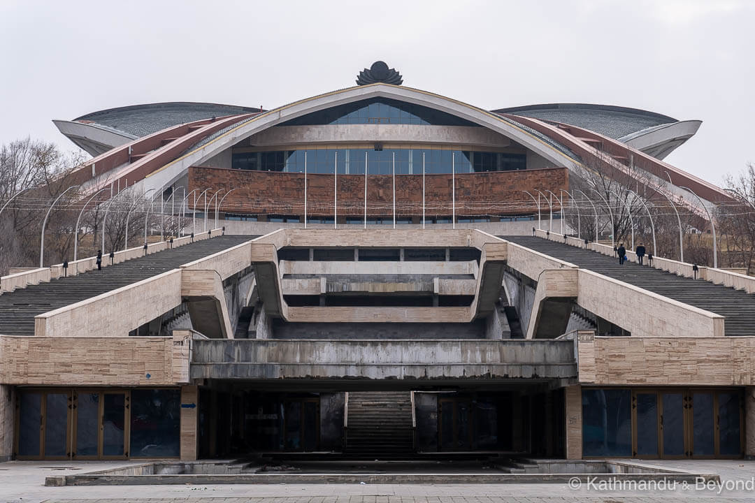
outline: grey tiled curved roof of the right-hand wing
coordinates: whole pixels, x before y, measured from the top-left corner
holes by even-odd
[[[614,140],[649,127],[678,122],[675,118],[647,110],[585,103],[547,103],[498,109],[493,112],[572,124]]]

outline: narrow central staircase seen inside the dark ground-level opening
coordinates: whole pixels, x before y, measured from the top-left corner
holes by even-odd
[[[350,392],[347,418],[349,454],[379,457],[414,450],[409,391]]]

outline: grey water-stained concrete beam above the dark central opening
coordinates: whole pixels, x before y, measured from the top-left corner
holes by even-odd
[[[194,379],[572,379],[569,340],[201,340]]]

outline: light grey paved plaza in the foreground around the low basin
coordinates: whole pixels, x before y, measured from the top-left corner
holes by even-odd
[[[755,462],[654,461],[663,468],[680,468],[698,473],[720,474],[726,487],[666,490],[601,490],[599,487],[572,489],[567,484],[309,484],[309,485],[165,485],[165,486],[66,486],[45,487],[45,477],[85,473],[136,464],[135,462],[6,462],[0,463],[0,502],[48,503],[562,503],[586,501],[624,503],[629,501],[755,501],[747,482],[755,477]]]

